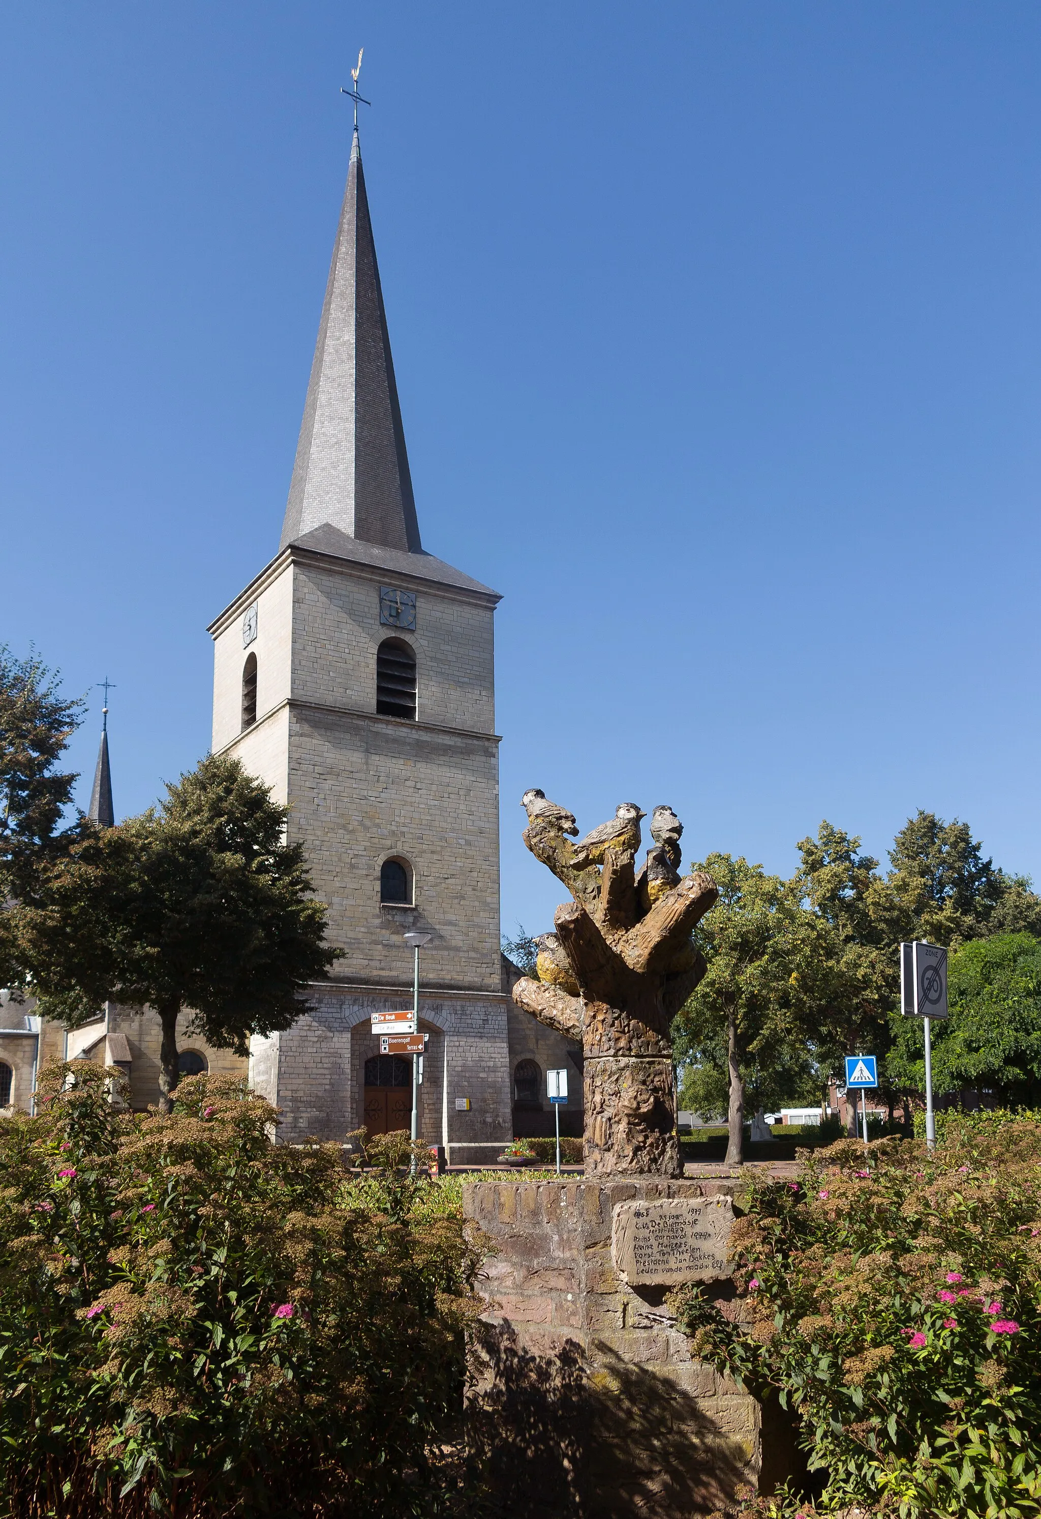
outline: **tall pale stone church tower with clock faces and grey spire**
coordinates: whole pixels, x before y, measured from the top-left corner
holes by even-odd
[[[287,1139],[407,1127],[407,1062],[370,1015],[410,1006],[408,930],[432,934],[422,1138],[511,1133],[498,600],[420,542],[355,128],[281,545],[209,627],[214,752],[288,807],[343,954],[288,1031],[252,1042]]]

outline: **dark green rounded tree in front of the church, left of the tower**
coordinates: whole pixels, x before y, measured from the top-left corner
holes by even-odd
[[[106,1000],[156,1010],[167,1110],[182,1009],[208,1044],[244,1054],[250,1033],[299,1018],[300,990],[337,958],[285,820],[238,760],[211,755],[158,813],[73,845],[15,911],[42,1013],[74,1025]]]

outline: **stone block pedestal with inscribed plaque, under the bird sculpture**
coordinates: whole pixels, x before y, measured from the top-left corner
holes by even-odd
[[[463,1188],[493,1252],[478,1282],[470,1429],[511,1519],[692,1519],[756,1489],[759,1404],[692,1358],[665,1303],[677,1279],[733,1302],[725,1221],[739,1186]]]

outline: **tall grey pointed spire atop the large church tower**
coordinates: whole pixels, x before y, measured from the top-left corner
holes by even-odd
[[[357,128],[279,547],[326,523],[422,553]]]

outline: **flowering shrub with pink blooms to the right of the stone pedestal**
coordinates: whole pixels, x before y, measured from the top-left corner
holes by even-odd
[[[680,1322],[792,1410],[821,1510],[1041,1513],[1041,1124],[842,1141],[756,1186],[731,1241],[738,1302],[684,1288]]]

